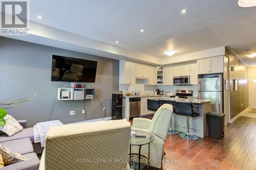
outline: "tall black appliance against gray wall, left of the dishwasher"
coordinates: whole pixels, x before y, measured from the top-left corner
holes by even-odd
[[[123,94],[112,94],[112,119],[122,119]]]

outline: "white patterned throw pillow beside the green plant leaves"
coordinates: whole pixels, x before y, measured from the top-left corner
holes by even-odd
[[[7,135],[13,136],[19,131],[23,130],[23,127],[11,115],[7,114],[5,116],[5,120],[6,120],[6,124],[3,128],[0,127],[0,130],[6,133]]]

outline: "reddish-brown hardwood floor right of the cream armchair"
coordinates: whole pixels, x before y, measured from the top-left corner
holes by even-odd
[[[222,140],[206,137],[187,141],[178,135],[168,135],[165,153],[163,169],[166,170],[254,170],[256,169],[256,118],[238,117],[225,127],[225,136]]]

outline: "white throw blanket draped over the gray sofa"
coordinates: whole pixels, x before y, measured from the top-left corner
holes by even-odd
[[[53,126],[62,126],[59,120],[52,120],[49,122],[41,122],[34,125],[34,142],[41,143],[41,148],[45,147],[45,138],[47,131]]]

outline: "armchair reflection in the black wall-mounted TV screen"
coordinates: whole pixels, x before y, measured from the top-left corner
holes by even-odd
[[[72,64],[70,70],[65,71],[62,80],[80,82],[82,80],[82,71],[82,65]]]

